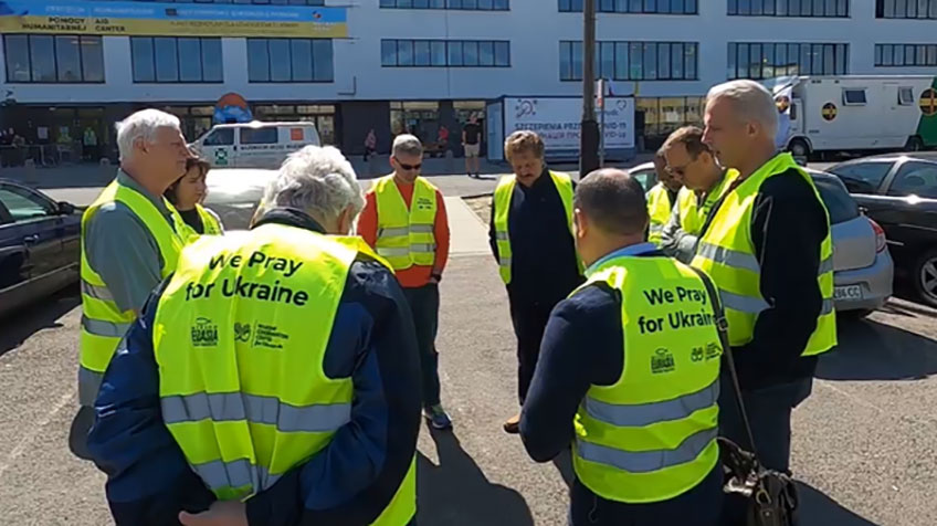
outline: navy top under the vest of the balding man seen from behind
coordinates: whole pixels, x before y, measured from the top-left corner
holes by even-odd
[[[633,245],[618,254],[664,255],[649,243]],[[569,446],[573,440],[576,411],[592,385],[611,386],[621,378],[624,367],[621,302],[621,293],[606,283],[593,283],[557,304],[550,314],[520,415],[520,438],[535,461],[552,460]],[[623,524],[621,519],[627,516],[651,520],[649,524],[689,525],[696,523],[680,515],[686,509],[696,509],[701,517],[718,513],[722,473],[717,465],[703,483],[662,503],[629,505],[609,501],[578,480],[570,495],[573,524]],[[676,515],[670,515],[672,513]]]

